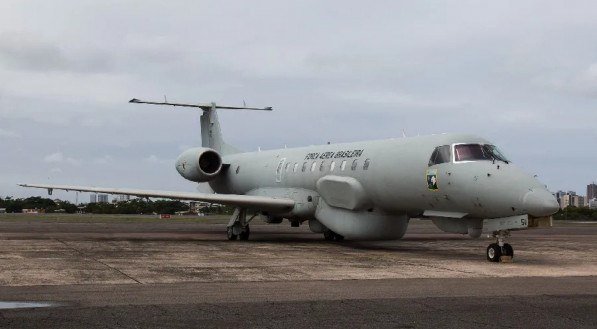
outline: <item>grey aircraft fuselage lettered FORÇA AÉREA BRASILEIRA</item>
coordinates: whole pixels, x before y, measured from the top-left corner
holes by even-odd
[[[430,165],[436,147],[457,144],[491,145],[471,135],[442,134],[239,153],[223,157],[230,166],[210,185],[226,194],[292,198],[294,190],[306,191],[299,196],[317,202],[322,197],[318,181],[339,176],[360,183],[368,209],[384,214],[413,217],[431,210],[497,218],[553,213],[557,204],[545,185],[510,162],[455,161],[452,152],[449,162]],[[529,201],[529,192],[541,200]],[[304,219],[313,218],[314,211]]]

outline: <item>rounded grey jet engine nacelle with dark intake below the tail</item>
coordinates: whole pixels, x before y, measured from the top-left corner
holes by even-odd
[[[176,159],[176,170],[192,182],[208,182],[222,170],[222,157],[206,147],[188,149]]]

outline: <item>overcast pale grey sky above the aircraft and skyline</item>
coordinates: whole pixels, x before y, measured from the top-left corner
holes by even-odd
[[[199,113],[245,150],[481,135],[551,190],[597,179],[595,1],[0,2],[0,196],[194,191]],[[74,193],[55,193],[74,200]],[[80,201],[88,201],[86,195]]]

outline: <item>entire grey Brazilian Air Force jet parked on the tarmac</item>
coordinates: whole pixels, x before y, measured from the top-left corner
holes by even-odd
[[[426,218],[441,230],[479,237],[492,234],[487,259],[513,257],[511,230],[550,226],[559,205],[546,186],[515,167],[489,141],[441,134],[263,152],[241,152],[222,138],[216,109],[266,110],[146,102],[199,108],[202,147],[184,151],[176,170],[207,182],[214,194],[85,186],[19,184],[52,190],[128,194],[232,205],[230,240],[249,238],[257,215],[267,223],[308,221],[326,240],[400,239],[410,218]],[[250,217],[248,217],[250,215]]]

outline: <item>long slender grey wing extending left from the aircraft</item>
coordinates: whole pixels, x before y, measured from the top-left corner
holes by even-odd
[[[208,194],[195,192],[153,191],[126,188],[104,188],[46,184],[19,184],[19,186],[46,189],[50,194],[53,190],[96,192],[106,194],[125,194],[151,198],[204,201],[259,210],[290,210],[292,209],[292,207],[294,207],[295,203],[292,199],[240,194]]]

